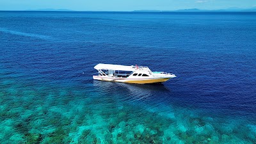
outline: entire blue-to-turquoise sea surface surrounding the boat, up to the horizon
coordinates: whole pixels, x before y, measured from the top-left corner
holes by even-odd
[[[0,12],[0,143],[256,143],[256,13]]]

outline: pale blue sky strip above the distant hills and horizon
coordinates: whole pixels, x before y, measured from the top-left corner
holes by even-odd
[[[75,11],[220,10],[252,8],[256,0],[0,0],[0,10],[68,9]]]

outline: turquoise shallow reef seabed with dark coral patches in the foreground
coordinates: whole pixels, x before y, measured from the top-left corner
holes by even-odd
[[[1,81],[0,143],[256,142],[256,125],[243,120],[147,108],[93,90],[13,83]]]

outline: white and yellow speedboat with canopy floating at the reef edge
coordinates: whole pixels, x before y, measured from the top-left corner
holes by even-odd
[[[175,74],[152,72],[148,67],[139,67],[138,65],[126,66],[99,63],[94,68],[98,70],[98,75],[93,76],[93,79],[100,81],[146,84],[163,83],[176,77]]]

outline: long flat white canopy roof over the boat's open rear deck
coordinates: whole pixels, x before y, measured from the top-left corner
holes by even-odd
[[[126,66],[126,65],[112,65],[112,64],[103,64],[99,63],[98,65],[95,65],[94,67],[96,70],[124,70],[124,71],[135,71],[136,66]],[[143,67],[148,68],[148,67]]]

